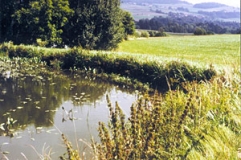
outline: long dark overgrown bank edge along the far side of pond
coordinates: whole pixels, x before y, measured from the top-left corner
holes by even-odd
[[[102,51],[73,49],[49,49],[34,46],[4,43],[0,51],[12,57],[38,57],[49,66],[59,69],[92,70],[94,74],[107,73],[136,79],[149,84],[151,88],[166,91],[182,88],[185,82],[201,82],[212,79],[215,69],[198,68],[186,62],[156,61],[145,59],[142,55],[119,54]]]

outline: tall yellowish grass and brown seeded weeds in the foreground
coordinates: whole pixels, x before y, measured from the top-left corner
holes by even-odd
[[[227,85],[228,84],[228,85]],[[118,103],[99,123],[99,159],[237,159],[241,143],[240,79],[188,83],[186,92],[144,95],[126,119]]]

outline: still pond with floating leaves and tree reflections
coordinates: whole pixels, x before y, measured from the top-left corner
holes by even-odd
[[[66,153],[61,133],[88,159],[85,143],[98,141],[98,122],[109,118],[106,95],[127,116],[137,97],[134,90],[87,76],[9,63],[0,63],[0,159],[58,159]]]

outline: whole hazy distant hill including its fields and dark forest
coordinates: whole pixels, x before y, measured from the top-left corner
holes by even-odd
[[[121,7],[132,14],[139,29],[194,33],[198,27],[209,34],[240,33],[240,9],[220,3],[123,0]]]

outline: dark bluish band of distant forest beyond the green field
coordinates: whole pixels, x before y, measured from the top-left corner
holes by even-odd
[[[237,22],[212,21],[206,18],[169,12],[167,17],[159,16],[151,19],[140,19],[136,22],[138,29],[159,30],[175,33],[194,33],[196,28],[205,30],[208,34],[240,33]]]

